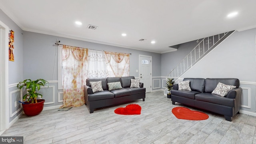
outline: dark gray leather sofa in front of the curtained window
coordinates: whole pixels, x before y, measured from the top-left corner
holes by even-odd
[[[90,113],[93,113],[95,108],[104,106],[122,104],[141,98],[145,101],[146,88],[143,88],[143,83],[140,82],[140,88],[130,88],[131,79],[135,79],[134,76],[87,79],[86,85],[84,85],[84,101],[88,105]],[[97,81],[102,81],[104,91],[92,92],[90,82]],[[121,82],[122,88],[109,91],[108,83],[110,82]]]

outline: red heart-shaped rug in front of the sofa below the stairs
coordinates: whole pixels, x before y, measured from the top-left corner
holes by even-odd
[[[173,108],[172,113],[174,116],[176,116],[176,118],[183,120],[206,120],[209,118],[209,116],[203,112],[198,112],[183,107]]]

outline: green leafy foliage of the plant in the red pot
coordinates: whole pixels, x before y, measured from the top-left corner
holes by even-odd
[[[17,84],[17,88],[24,88],[27,90],[27,93],[23,96],[23,101],[29,102],[31,100],[31,104],[37,103],[38,96],[42,97],[42,94],[37,93],[40,90],[41,86],[48,85],[49,82],[44,79],[38,80],[30,80],[26,79]]]

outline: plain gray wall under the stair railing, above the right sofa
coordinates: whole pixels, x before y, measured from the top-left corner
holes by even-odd
[[[183,77],[238,78],[255,82],[256,28],[234,32]]]

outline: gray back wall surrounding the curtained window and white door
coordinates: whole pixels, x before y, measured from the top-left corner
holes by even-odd
[[[139,55],[152,56],[152,76],[154,78],[161,77],[161,54],[24,31],[23,76],[24,79],[43,78],[50,82],[50,88],[43,88],[41,91],[44,96],[43,98],[46,100],[44,104],[45,108],[63,104],[63,91],[58,90],[57,81],[58,51],[56,45],[54,44],[57,38],[60,40],[61,44],[70,46],[131,53],[130,76],[135,77],[139,77],[138,72],[136,72],[136,70],[139,69]],[[158,89],[160,88],[156,88],[154,90]]]

